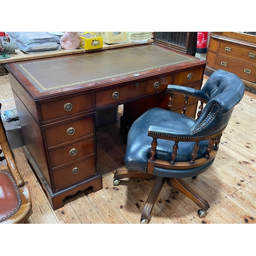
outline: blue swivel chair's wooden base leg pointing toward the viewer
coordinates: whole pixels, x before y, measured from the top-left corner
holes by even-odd
[[[160,193],[160,191],[161,191],[161,189],[164,185],[164,182],[165,182],[164,177],[160,177],[160,176],[156,177],[154,186],[151,189],[150,195],[148,196],[148,198],[146,200],[146,203],[144,205],[144,208],[142,210],[140,223],[142,223],[142,224],[148,223],[148,220],[150,218],[152,209],[153,209],[153,207],[156,203],[157,197],[158,197],[158,195],[159,195],[159,193]]]

